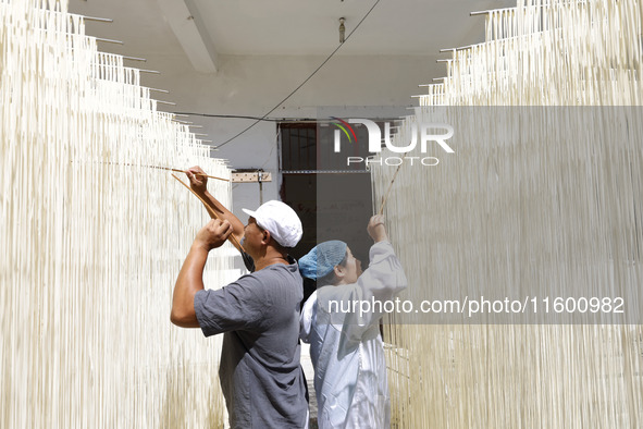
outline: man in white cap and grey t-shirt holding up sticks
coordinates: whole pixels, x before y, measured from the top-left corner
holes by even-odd
[[[181,269],[171,320],[224,333],[219,376],[232,428],[307,427],[306,383],[299,365],[299,304],[302,280],[287,249],[301,238],[301,222],[280,201],[268,201],[240,221],[207,193],[200,169],[189,170],[193,188],[224,220],[210,221],[195,238]],[[217,205],[215,205],[215,204]],[[256,271],[220,290],[206,291],[208,253],[234,234],[255,260]]]

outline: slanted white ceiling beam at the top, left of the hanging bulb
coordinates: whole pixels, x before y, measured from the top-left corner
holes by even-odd
[[[189,62],[198,72],[217,72],[217,50],[194,0],[157,0]]]

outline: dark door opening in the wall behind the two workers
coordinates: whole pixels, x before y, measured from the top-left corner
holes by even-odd
[[[345,167],[345,156],[333,154],[331,145],[320,143],[316,122],[281,123],[279,127],[281,198],[295,209],[304,225],[304,236],[293,256],[300,258],[318,243],[342,240],[366,268],[372,244],[367,223],[373,214],[366,167]],[[368,142],[366,128],[356,132],[361,142]],[[350,155],[368,155],[363,143],[348,150]]]

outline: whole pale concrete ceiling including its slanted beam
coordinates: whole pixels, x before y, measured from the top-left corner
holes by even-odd
[[[469,12],[516,0],[381,0],[338,56],[434,56],[479,42],[484,17]],[[134,57],[183,50],[196,70],[218,56],[326,56],[374,4],[363,0],[70,0],[74,13],[113,19],[87,33],[119,39],[103,50]],[[102,48],[102,47],[101,47]]]

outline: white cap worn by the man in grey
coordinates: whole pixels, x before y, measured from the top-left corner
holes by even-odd
[[[270,232],[270,235],[284,247],[295,247],[301,240],[301,221],[287,204],[273,199],[262,204],[255,211],[242,210],[255,218],[257,224]]]

